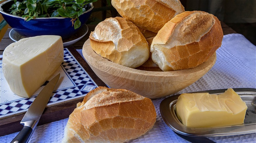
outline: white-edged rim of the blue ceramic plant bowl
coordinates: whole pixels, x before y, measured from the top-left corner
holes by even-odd
[[[13,0],[7,0],[7,1],[3,2],[2,4],[0,4],[0,13],[1,14],[5,14],[5,15],[9,15],[11,17],[15,17],[15,18],[19,18],[19,19],[24,19],[25,20],[25,18],[22,18],[21,16],[12,15],[12,14],[7,13],[7,12],[4,11],[2,6],[5,5],[6,3],[10,2],[10,1],[13,1]],[[93,3],[89,3],[89,4],[90,4],[91,8],[88,9],[87,11],[85,11],[82,14],[85,14],[85,13],[90,12],[90,11],[93,10],[93,8],[94,8]],[[31,20],[36,20],[36,19],[65,19],[65,18],[69,18],[69,17],[39,17],[39,18],[33,18]]]

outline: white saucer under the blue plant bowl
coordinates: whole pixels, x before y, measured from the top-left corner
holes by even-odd
[[[86,24],[81,26],[82,27],[79,29],[79,31],[75,35],[72,35],[71,37],[62,40],[64,47],[73,45],[75,42],[79,41],[87,34],[88,26]],[[22,36],[19,33],[17,33],[14,29],[11,29],[11,31],[9,32],[9,37],[14,42],[17,42],[18,40],[21,40],[23,38],[27,38],[26,36]]]

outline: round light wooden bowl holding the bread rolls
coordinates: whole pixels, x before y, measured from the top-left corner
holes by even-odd
[[[109,87],[127,89],[154,99],[174,94],[193,84],[208,72],[216,61],[216,53],[196,68],[179,71],[142,71],[111,62],[97,55],[90,39],[83,45],[83,56],[96,75]]]

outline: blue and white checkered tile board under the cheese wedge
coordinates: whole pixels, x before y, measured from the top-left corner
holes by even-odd
[[[66,48],[64,49],[64,62],[49,78],[49,81],[58,73],[60,73],[60,79],[55,86],[47,106],[53,106],[83,97],[98,87]],[[14,94],[4,77],[2,60],[0,60],[0,118],[11,117],[27,111],[43,87],[40,87],[31,98],[23,98]]]

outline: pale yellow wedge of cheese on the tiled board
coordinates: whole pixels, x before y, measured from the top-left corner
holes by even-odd
[[[29,98],[63,62],[60,36],[44,35],[11,43],[3,52],[3,73],[15,94]]]

